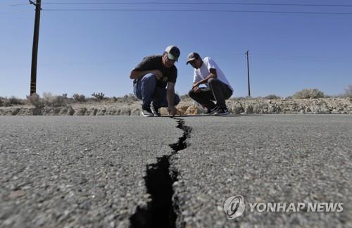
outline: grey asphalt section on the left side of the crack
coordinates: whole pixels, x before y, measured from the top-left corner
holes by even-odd
[[[0,118],[0,227],[128,227],[170,118]]]

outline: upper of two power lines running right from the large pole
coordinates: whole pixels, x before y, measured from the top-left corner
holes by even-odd
[[[161,1],[144,1],[144,2],[46,2],[46,5],[68,5],[68,4],[88,4],[88,5],[101,5],[101,4],[172,4],[172,5],[244,5],[244,6],[331,6],[331,7],[352,7],[352,5],[345,4],[255,4],[255,3],[227,3],[227,2],[161,2]]]

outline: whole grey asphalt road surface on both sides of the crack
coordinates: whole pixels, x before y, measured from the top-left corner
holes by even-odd
[[[352,116],[181,119],[0,117],[0,227],[352,227]],[[228,220],[237,195],[344,210]]]

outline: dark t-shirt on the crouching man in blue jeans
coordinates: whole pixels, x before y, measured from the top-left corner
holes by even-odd
[[[133,70],[144,71],[144,70],[160,70],[163,73],[163,78],[158,80],[156,85],[158,87],[165,88],[168,82],[176,83],[177,68],[173,65],[171,68],[165,68],[163,65],[163,56],[146,56],[143,58]],[[136,81],[136,80],[135,80]]]

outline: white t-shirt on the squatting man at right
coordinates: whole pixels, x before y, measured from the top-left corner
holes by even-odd
[[[213,68],[216,70],[217,79],[220,80],[220,82],[224,82],[230,87],[232,91],[234,91],[234,89],[232,89],[230,82],[227,80],[222,70],[210,57],[203,58],[203,64],[201,65],[201,68],[194,69],[193,82],[199,82],[205,79],[206,77],[208,77],[208,75],[210,74],[210,68]],[[208,83],[206,83],[206,86],[208,87]]]

